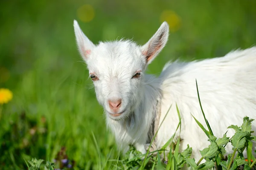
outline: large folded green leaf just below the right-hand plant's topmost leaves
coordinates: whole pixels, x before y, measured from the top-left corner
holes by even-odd
[[[231,139],[231,143],[233,147],[237,149],[241,149],[244,147],[244,144],[246,142],[246,138],[250,137],[249,132],[237,132],[235,135],[233,135]]]

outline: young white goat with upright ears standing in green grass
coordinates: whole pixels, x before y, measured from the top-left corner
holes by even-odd
[[[162,147],[178,125],[177,103],[182,117],[180,148],[184,150],[189,144],[192,156],[198,160],[199,150],[209,142],[190,114],[206,127],[198,102],[196,79],[204,112],[216,136],[222,137],[231,124],[240,126],[246,115],[256,119],[256,47],[233,51],[220,58],[168,63],[155,78],[144,72],[166,45],[169,35],[166,22],[143,46],[130,40],[94,45],[76,20],[74,29],[96,97],[105,110],[107,125],[124,151],[128,144],[133,144],[145,153],[159,122],[172,105],[154,141],[156,148]],[[255,121],[253,130],[256,131]],[[227,136],[233,133],[229,130]],[[232,151],[231,148],[227,146],[228,151]]]

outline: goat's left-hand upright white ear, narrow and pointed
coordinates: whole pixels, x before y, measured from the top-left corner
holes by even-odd
[[[74,29],[79,52],[86,61],[95,45],[84,35],[76,20],[74,20]]]

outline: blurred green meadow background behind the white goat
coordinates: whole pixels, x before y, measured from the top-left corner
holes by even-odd
[[[223,56],[256,43],[255,0],[1,0],[0,88],[14,94],[0,119],[0,169],[31,157],[64,157],[76,169],[114,168],[118,156],[86,66],[76,50],[73,20],[93,41],[145,43],[166,20],[169,42],[148,67],[171,59]]]

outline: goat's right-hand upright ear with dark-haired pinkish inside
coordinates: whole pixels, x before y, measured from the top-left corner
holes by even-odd
[[[149,64],[166,45],[169,36],[169,25],[163,22],[157,32],[141,47],[142,53]]]

